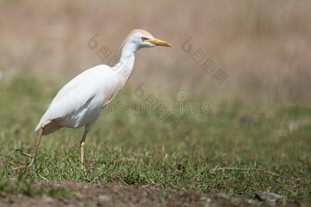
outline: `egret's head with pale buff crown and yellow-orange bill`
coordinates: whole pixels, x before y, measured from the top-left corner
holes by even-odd
[[[170,43],[154,38],[145,30],[132,30],[123,41],[120,47],[121,51],[125,45],[129,48],[135,49],[136,51],[141,48],[153,48],[158,45],[171,47]]]

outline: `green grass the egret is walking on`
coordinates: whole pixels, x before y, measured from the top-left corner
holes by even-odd
[[[90,131],[85,171],[79,165],[82,128],[43,136],[37,165],[13,170],[30,161],[15,149],[33,151],[33,130],[60,86],[27,77],[0,83],[0,195],[48,194],[62,198],[66,193],[55,191],[67,192],[65,188],[52,184],[31,188],[32,180],[75,180],[232,196],[270,191],[286,199],[311,202],[311,105],[307,104],[268,107],[223,101],[212,106],[216,113],[176,114],[180,123],[174,130],[154,114],[115,111],[103,114]],[[142,103],[133,90],[126,87],[115,102]],[[211,97],[198,100],[203,103],[204,98],[213,104]],[[241,122],[245,115],[251,119]],[[293,130],[291,123],[297,123]],[[279,176],[258,171],[211,172],[216,167],[261,168]]]

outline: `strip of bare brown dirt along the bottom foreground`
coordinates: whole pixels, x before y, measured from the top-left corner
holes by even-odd
[[[299,206],[294,202],[269,203],[245,196],[229,198],[221,193],[201,194],[194,191],[108,185],[102,182],[62,181],[57,185],[68,187],[73,191],[73,195],[59,200],[49,196],[9,194],[0,198],[0,206]]]

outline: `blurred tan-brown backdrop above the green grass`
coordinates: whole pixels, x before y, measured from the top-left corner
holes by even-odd
[[[307,102],[310,10],[309,1],[1,1],[0,81],[30,76],[61,86],[107,64],[97,55],[102,46],[119,55],[126,35],[144,29],[172,48],[140,50],[127,87],[144,82],[155,95],[185,91],[215,103]],[[192,58],[198,49],[206,55],[200,63]],[[220,85],[201,68],[208,58],[227,76]]]

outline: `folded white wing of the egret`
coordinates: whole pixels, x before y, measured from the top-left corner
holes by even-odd
[[[110,69],[110,70],[107,70]],[[102,88],[98,84],[105,82],[111,68],[97,65],[76,76],[58,91],[48,109],[42,116],[35,131],[48,120],[70,119],[76,127],[87,113],[87,106]],[[103,97],[104,98],[104,97]]]

